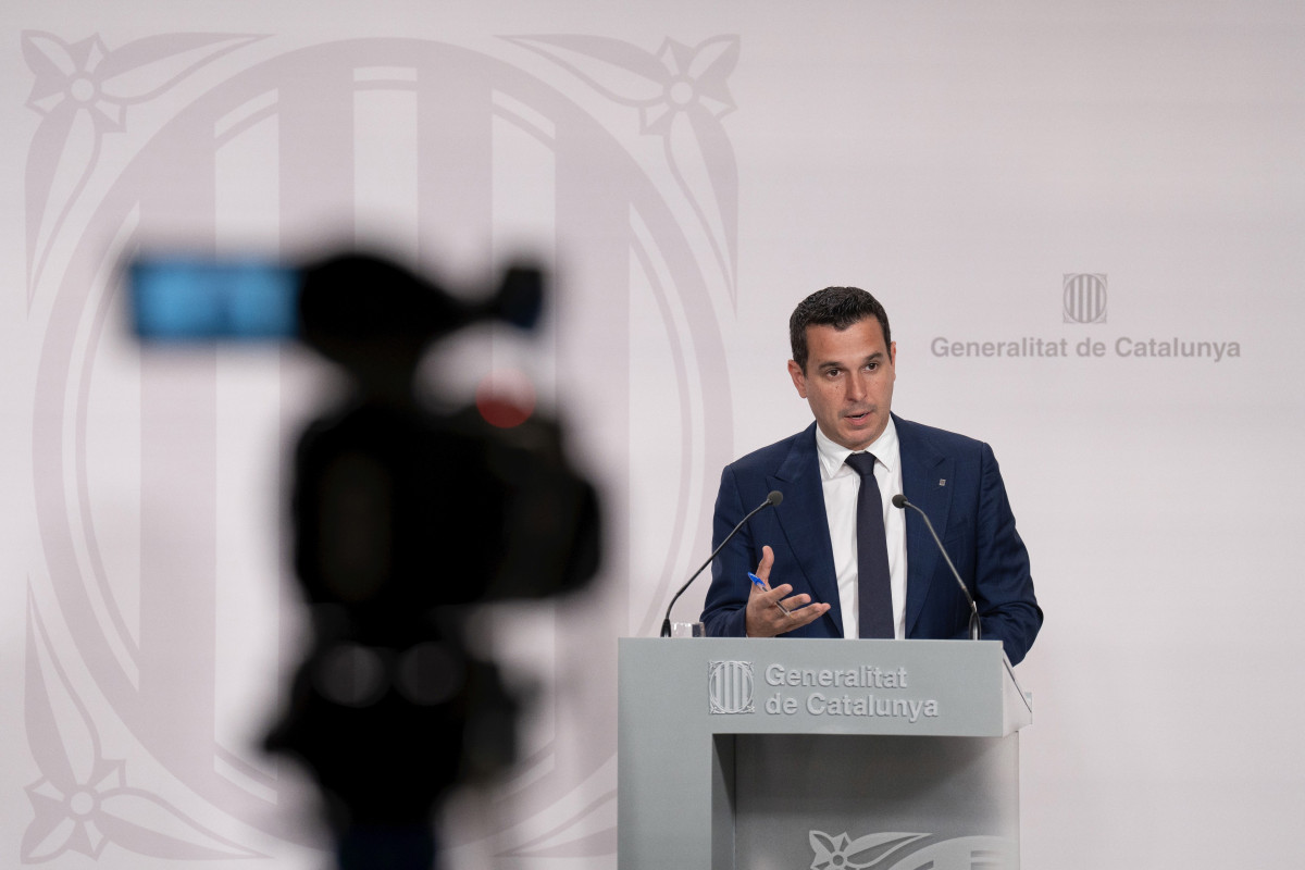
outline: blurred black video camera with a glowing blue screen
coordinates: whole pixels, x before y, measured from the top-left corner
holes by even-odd
[[[146,344],[298,340],[350,377],[295,451],[294,562],[313,643],[266,743],[312,770],[342,867],[377,866],[382,847],[388,866],[431,866],[419,830],[440,797],[513,760],[519,702],[468,651],[468,607],[570,592],[598,570],[598,498],[555,421],[501,428],[416,398],[435,342],[484,321],[532,327],[543,283],[510,269],[472,304],[358,253],[128,267]],[[403,837],[408,860],[394,853]]]

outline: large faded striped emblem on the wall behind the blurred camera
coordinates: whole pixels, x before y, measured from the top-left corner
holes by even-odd
[[[270,720],[261,704],[275,702],[278,661],[295,652],[275,462],[304,410],[303,372],[277,353],[140,355],[120,334],[112,266],[141,240],[221,253],[257,237],[294,253],[313,227],[329,223],[337,241],[388,209],[416,262],[438,266],[450,244],[480,239],[489,269],[496,233],[526,202],[565,266],[551,365],[560,393],[602,397],[595,443],[624,450],[629,438],[626,337],[642,305],[656,322],[638,329],[672,361],[669,434],[698,458],[663,487],[699,501],[701,468],[732,449],[718,312],[736,288],[737,179],[720,119],[733,107],[737,38],[650,51],[518,37],[499,57],[412,39],[268,46],[224,34],[23,35],[40,115],[25,203],[47,567],[27,609],[26,747],[39,777],[26,787],[23,863],[69,852],[124,866],[132,856],[260,858],[305,836],[301,796],[241,742]],[[251,470],[249,455],[266,466]],[[608,507],[624,517],[634,496],[613,489]],[[669,577],[699,545],[690,528],[677,520],[666,563],[645,573]],[[625,575],[624,558],[611,554],[612,577]],[[616,634],[650,631],[666,590],[628,595],[646,599],[613,596],[607,621],[555,640],[559,673]],[[608,689],[594,691],[573,720],[607,721]],[[525,813],[608,763],[615,724],[581,742],[591,755],[561,758],[574,751],[564,742],[531,755],[517,787]],[[505,848],[515,858],[612,853],[612,824],[585,822],[602,802],[615,806],[615,794],[579,801],[547,840]]]

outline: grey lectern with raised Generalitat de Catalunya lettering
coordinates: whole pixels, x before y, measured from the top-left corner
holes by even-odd
[[[996,640],[626,638],[620,870],[1018,870]]]

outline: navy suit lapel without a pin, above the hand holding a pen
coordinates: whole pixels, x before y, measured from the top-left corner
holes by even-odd
[[[838,600],[838,578],[834,575],[834,548],[829,540],[825,518],[825,492],[821,485],[820,462],[816,455],[816,424],[795,441],[788,457],[779,464],[767,485],[784,493],[776,511],[779,526],[788,541],[788,552],[797,554],[797,569],[806,578],[812,599],[830,605],[822,618],[831,618],[838,634],[843,631],[843,610]],[[775,565],[778,577],[793,566]]]

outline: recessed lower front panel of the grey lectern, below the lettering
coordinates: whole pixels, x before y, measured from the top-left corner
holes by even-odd
[[[1017,866],[1018,753],[1014,734],[740,734],[735,866]]]

